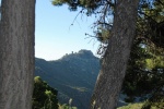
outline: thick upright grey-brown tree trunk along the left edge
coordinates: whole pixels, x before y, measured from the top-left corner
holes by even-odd
[[[0,109],[32,109],[35,0],[2,0]]]

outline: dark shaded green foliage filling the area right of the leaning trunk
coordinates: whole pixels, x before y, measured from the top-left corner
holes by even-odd
[[[122,92],[128,96],[126,100],[130,102],[136,97],[140,97],[140,100],[151,99],[153,102],[164,97],[164,46],[160,43],[164,41],[164,14],[159,12],[164,9],[159,8],[163,8],[161,3],[152,9],[145,5],[140,9],[137,35],[122,86]]]

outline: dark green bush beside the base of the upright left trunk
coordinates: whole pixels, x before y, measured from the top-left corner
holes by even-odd
[[[33,109],[58,109],[57,90],[39,76],[34,78]]]

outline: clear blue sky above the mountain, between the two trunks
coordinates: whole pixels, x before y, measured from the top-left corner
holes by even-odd
[[[50,0],[36,0],[35,57],[56,60],[80,49],[96,55],[98,41],[90,43],[92,38],[84,35],[92,34],[95,19],[79,15],[70,26],[78,12],[70,12],[67,5],[54,7]]]

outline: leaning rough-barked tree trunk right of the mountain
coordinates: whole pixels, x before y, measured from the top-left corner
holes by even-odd
[[[92,96],[91,109],[115,109],[136,32],[139,0],[117,0],[112,37]]]

